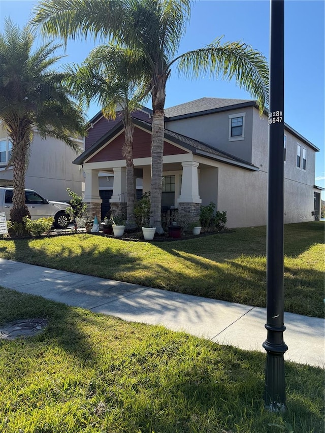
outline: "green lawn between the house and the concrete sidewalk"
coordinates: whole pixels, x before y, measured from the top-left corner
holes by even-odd
[[[284,308],[324,314],[324,225],[285,225]],[[266,306],[266,228],[174,242],[94,235],[0,241],[0,257],[176,292]]]

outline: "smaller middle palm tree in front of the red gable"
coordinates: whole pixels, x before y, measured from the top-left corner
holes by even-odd
[[[116,112],[123,111],[124,137],[123,155],[126,161],[126,228],[137,226],[134,218],[134,165],[132,112],[141,109],[140,102],[148,94],[148,77],[141,74],[142,62],[135,61],[129,50],[113,45],[94,48],[85,61],[67,67],[72,86],[87,106],[92,100],[102,108],[106,118],[115,119]],[[150,78],[150,77],[149,77]]]

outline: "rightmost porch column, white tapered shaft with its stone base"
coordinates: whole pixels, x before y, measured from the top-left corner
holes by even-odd
[[[178,214],[190,223],[199,219],[202,203],[199,195],[199,162],[182,162],[182,166],[182,188],[177,200]]]

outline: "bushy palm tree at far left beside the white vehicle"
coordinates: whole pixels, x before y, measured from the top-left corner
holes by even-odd
[[[31,51],[35,36],[9,19],[0,34],[0,120],[12,143],[9,164],[13,166],[11,220],[22,222],[29,215],[25,206],[25,173],[29,146],[35,129],[41,137],[62,140],[79,151],[73,140],[84,134],[84,116],[62,84],[65,74],[50,66],[61,58],[53,56],[59,45],[51,42]]]

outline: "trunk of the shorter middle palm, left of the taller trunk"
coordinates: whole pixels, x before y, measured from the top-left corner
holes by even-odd
[[[134,165],[133,165],[133,132],[134,124],[131,115],[125,114],[123,120],[125,126],[125,161],[126,161],[126,228],[134,229],[137,227],[134,217]]]

